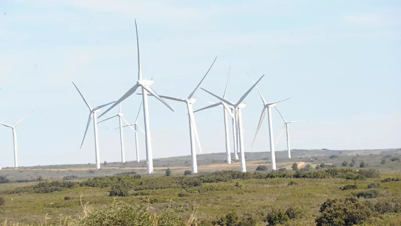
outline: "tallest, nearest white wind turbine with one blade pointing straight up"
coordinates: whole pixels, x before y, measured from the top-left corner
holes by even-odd
[[[153,157],[152,157],[152,143],[150,139],[150,126],[149,126],[149,109],[148,109],[148,92],[155,96],[158,100],[160,100],[164,105],[166,105],[170,110],[174,112],[174,110],[152,89],[150,86],[153,84],[153,80],[144,80],[142,79],[142,70],[141,70],[141,60],[139,54],[139,40],[138,40],[138,27],[136,25],[135,20],[135,30],[136,30],[136,45],[138,48],[138,80],[136,84],[128,90],[122,97],[120,97],[109,109],[107,109],[103,114],[107,113],[109,110],[117,106],[120,102],[131,96],[139,87],[142,88],[142,100],[143,100],[143,109],[144,109],[144,124],[145,124],[145,142],[146,142],[146,163],[147,163],[147,171],[149,174],[153,173]],[[99,117],[101,117],[101,114]],[[98,118],[99,118],[98,117]]]

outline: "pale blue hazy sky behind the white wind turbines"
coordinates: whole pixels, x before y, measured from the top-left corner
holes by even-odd
[[[160,95],[187,97],[201,84],[237,101],[254,80],[290,125],[294,149],[401,147],[401,2],[397,0],[1,0],[0,121],[15,124],[20,166],[94,163],[89,104],[117,100],[137,80],[134,19],[142,75]],[[216,98],[201,89],[194,109]],[[134,122],[141,97],[122,103]],[[269,151],[256,90],[243,109],[246,152]],[[149,98],[154,158],[190,154],[186,106],[170,111]],[[106,110],[105,108],[103,110]],[[118,108],[102,118],[117,114]],[[273,110],[276,140],[283,121]],[[195,113],[203,153],[225,152],[223,108]],[[143,114],[139,125],[143,128]],[[101,162],[120,161],[117,118],[98,126]],[[230,126],[231,128],[231,126]],[[230,138],[232,138],[230,134]],[[285,150],[285,136],[276,150]],[[124,128],[126,160],[135,160],[134,132]],[[139,134],[145,159],[144,134]],[[233,146],[231,144],[231,150]],[[198,152],[199,153],[199,152]],[[13,166],[12,130],[0,127],[0,166]],[[269,154],[268,154],[269,156]]]

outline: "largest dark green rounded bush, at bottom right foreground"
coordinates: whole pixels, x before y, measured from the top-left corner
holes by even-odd
[[[371,215],[369,208],[356,198],[328,199],[320,206],[322,214],[316,226],[352,226],[365,222]]]

